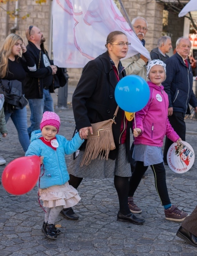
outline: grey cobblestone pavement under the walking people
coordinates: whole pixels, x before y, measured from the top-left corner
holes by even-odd
[[[73,88],[70,87],[70,95]],[[54,100],[54,102],[56,102]],[[72,108],[56,109],[61,118],[59,134],[71,138],[75,128]],[[30,110],[28,108],[28,119]],[[9,134],[0,142],[0,155],[7,163],[23,156],[11,120]],[[197,152],[197,121],[186,120],[186,140]],[[66,156],[67,163],[70,156]],[[0,166],[0,174],[4,166]],[[166,168],[172,203],[189,213],[197,205],[197,160],[190,171],[173,173]],[[44,211],[38,204],[37,187],[25,195],[8,194],[0,185],[0,256],[196,256],[197,249],[176,236],[180,223],[165,220],[151,169],[135,193],[135,202],[146,219],[143,225],[118,222],[118,198],[113,179],[85,179],[78,188],[82,200],[75,206],[78,221],[59,216],[62,234],[51,241],[41,232]]]

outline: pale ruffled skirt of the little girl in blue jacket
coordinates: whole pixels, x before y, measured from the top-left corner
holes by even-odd
[[[56,206],[69,208],[81,200],[77,190],[69,185],[69,182],[64,185],[51,186],[47,189],[39,189],[39,195],[40,200],[43,201],[43,206],[48,208]]]

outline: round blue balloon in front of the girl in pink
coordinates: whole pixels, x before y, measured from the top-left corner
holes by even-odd
[[[115,100],[127,112],[137,112],[146,106],[150,98],[147,82],[139,75],[127,75],[116,85]]]

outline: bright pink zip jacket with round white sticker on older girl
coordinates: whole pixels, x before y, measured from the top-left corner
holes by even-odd
[[[174,142],[179,136],[168,120],[169,101],[164,87],[157,86],[151,81],[147,83],[150,88],[150,99],[142,110],[135,113],[136,128],[140,128],[142,133],[135,137],[134,144],[162,147],[165,135]]]

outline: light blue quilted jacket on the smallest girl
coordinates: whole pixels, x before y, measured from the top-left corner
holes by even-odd
[[[70,155],[74,153],[83,143],[77,133],[71,141],[67,141],[62,135],[56,135],[59,143],[57,150],[44,144],[38,138],[42,137],[41,131],[32,132],[31,144],[27,149],[25,156],[38,155],[44,156],[44,169],[41,168],[40,188],[45,189],[54,185],[63,185],[69,181],[69,174],[65,162],[65,154]],[[37,183],[38,185],[38,183]]]

